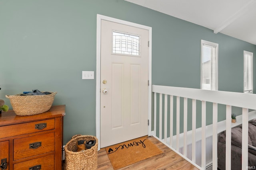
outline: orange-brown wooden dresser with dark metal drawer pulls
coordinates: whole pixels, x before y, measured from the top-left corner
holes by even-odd
[[[0,170],[61,170],[65,105],[30,116],[0,114]]]

